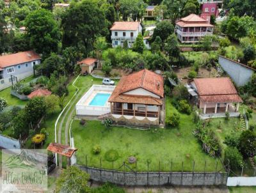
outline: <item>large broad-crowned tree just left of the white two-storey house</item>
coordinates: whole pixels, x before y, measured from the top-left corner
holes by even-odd
[[[75,46],[88,53],[96,36],[106,32],[105,15],[96,1],[84,0],[71,4],[61,19],[63,47]]]

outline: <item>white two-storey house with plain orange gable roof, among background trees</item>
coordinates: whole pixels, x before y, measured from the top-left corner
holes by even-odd
[[[131,48],[139,33],[142,33],[140,22],[115,22],[110,28],[112,47],[124,46],[125,40]]]

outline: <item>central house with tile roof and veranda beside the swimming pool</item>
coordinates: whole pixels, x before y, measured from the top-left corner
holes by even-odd
[[[111,94],[111,118],[117,123],[159,125],[164,97],[161,75],[141,70],[123,76]]]

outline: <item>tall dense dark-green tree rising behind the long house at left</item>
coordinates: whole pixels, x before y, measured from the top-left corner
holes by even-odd
[[[31,47],[36,52],[47,56],[58,50],[60,29],[51,12],[40,9],[29,13],[25,26]]]

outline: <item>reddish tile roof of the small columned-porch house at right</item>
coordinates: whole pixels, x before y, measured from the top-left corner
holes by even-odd
[[[202,102],[243,102],[228,77],[194,79]]]

